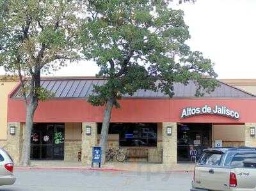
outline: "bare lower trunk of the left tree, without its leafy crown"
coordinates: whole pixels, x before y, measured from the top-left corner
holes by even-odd
[[[30,141],[31,141],[31,132],[33,128],[33,118],[37,103],[28,103],[26,107],[26,127],[22,148],[22,157],[20,165],[29,166],[30,165]]]

